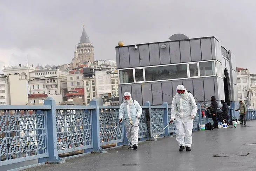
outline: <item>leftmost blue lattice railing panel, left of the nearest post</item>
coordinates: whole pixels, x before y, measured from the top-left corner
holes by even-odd
[[[0,107],[0,166],[47,157],[46,110],[50,108]]]

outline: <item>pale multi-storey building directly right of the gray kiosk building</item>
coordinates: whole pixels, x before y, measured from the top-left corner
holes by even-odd
[[[238,100],[242,100],[247,108],[253,109],[250,71],[236,68]]]

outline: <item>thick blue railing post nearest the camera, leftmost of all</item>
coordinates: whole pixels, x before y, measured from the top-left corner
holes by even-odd
[[[44,101],[44,105],[50,105],[51,110],[46,113],[46,145],[47,145],[47,157],[38,159],[38,163],[65,163],[58,156],[57,150],[57,126],[56,126],[56,107],[55,100],[52,97],[47,97]]]

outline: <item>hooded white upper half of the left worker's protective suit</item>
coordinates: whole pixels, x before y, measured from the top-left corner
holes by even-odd
[[[119,119],[127,119],[131,124],[137,126],[139,124],[139,119],[136,118],[136,116],[141,116],[141,106],[136,100],[132,99],[129,92],[125,92],[123,94],[123,97],[124,96],[130,96],[130,100],[124,100],[124,102],[120,105]],[[130,125],[127,121],[124,121],[124,125],[126,126],[127,124]]]

